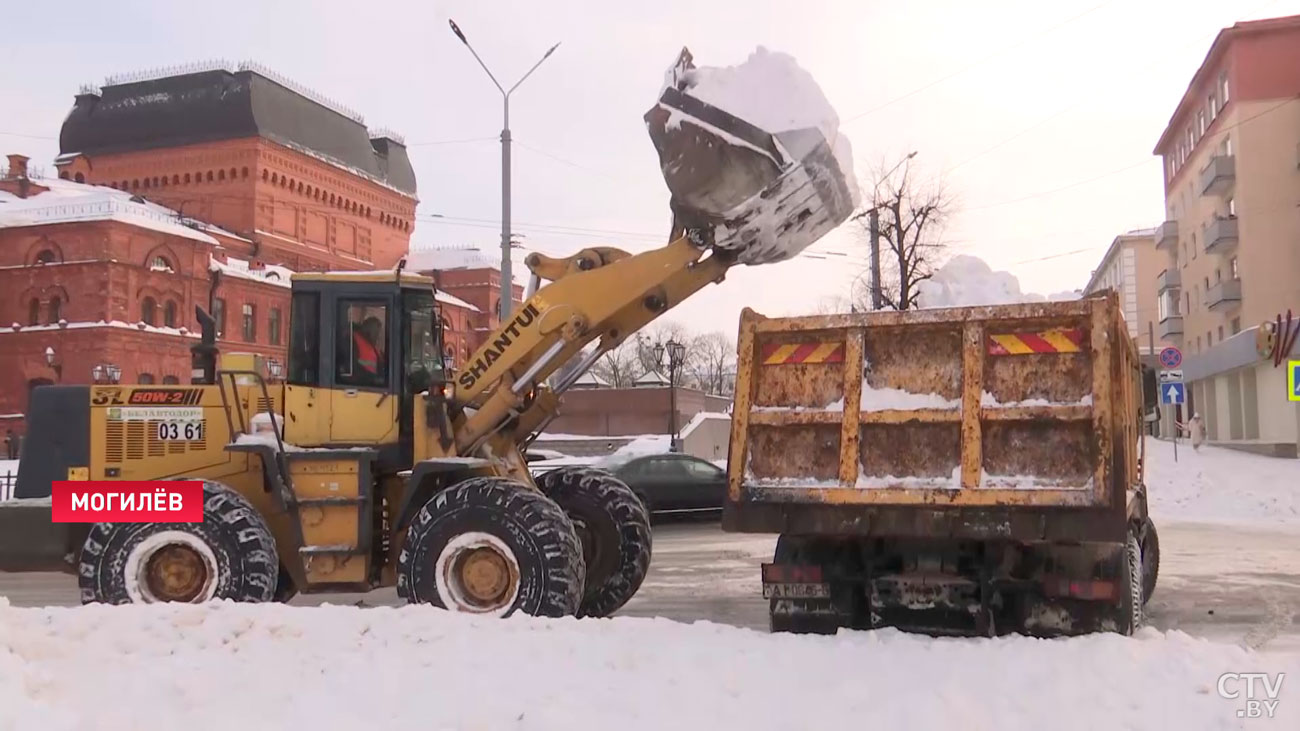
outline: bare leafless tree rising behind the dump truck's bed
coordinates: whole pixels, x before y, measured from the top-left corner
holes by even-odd
[[[888,172],[885,172],[888,170]],[[924,179],[914,169],[911,155],[890,168],[878,166],[871,200],[880,216],[880,281],[883,304],[890,310],[911,310],[920,294],[920,282],[933,276],[946,243],[944,225],[954,202],[940,179]],[[870,246],[868,213],[854,220],[862,226],[862,239]],[[854,280],[850,299],[857,306],[871,302],[871,274]]]

